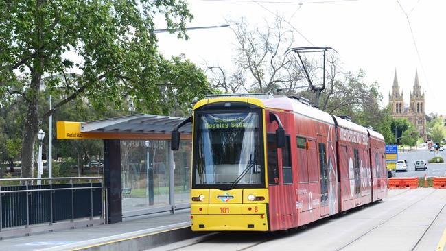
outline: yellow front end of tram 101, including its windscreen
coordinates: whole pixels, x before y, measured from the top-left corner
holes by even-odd
[[[220,106],[222,109],[216,109]],[[203,99],[193,107],[193,231],[268,231],[264,109],[263,101],[252,97]],[[206,128],[205,125],[215,126]],[[207,133],[202,134],[202,130],[207,130]],[[218,144],[220,141],[212,141],[213,134],[226,136],[228,145],[240,141],[242,147],[233,147],[231,154],[226,153]],[[243,141],[246,136],[259,140]],[[204,153],[203,150],[209,152]],[[237,160],[233,158],[235,156]],[[242,163],[247,168],[244,173],[240,169]],[[219,189],[227,187],[234,189]]]

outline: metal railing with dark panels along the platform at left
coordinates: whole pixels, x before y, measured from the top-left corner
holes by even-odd
[[[105,224],[106,193],[102,177],[0,179],[0,238]]]

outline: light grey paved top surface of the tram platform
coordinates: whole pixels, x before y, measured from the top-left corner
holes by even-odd
[[[190,226],[189,210],[132,217],[118,224],[58,230],[0,241],[0,250],[69,250],[79,246]]]

